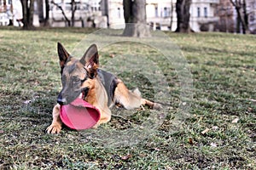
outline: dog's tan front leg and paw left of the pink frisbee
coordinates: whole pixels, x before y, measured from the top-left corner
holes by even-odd
[[[46,131],[47,133],[60,133],[61,132],[61,117],[60,117],[60,107],[61,105],[57,104],[55,105],[53,111],[52,111],[52,117],[53,120],[51,122],[51,125],[47,127]]]

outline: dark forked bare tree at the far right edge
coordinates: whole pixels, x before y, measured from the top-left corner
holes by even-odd
[[[233,6],[236,8],[236,32],[240,32],[241,26],[242,33],[246,34],[249,31],[246,0],[230,0],[230,3],[232,3]]]

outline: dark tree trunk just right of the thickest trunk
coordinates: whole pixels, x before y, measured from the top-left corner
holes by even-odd
[[[189,8],[192,0],[177,0],[176,3],[176,13],[177,13],[177,29],[176,32],[186,32],[190,31],[189,19],[190,13]]]

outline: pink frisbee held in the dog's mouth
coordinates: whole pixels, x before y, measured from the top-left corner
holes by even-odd
[[[101,113],[95,106],[78,98],[69,105],[61,105],[60,116],[67,127],[84,130],[96,125]]]

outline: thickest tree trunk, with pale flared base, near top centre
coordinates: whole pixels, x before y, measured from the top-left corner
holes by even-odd
[[[125,30],[127,37],[150,37],[147,26],[146,0],[123,0]]]

